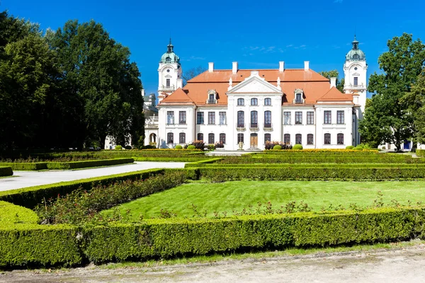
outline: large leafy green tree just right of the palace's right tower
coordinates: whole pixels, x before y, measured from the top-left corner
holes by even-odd
[[[359,131],[365,141],[389,142],[397,150],[414,133],[413,115],[403,96],[421,73],[425,62],[425,45],[403,33],[387,42],[388,51],[378,58],[382,74],[370,76],[368,91],[373,93]]]

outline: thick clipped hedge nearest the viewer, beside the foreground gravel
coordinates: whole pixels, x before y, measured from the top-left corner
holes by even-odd
[[[154,219],[108,226],[0,227],[0,266],[205,255],[251,248],[376,243],[424,237],[424,209]],[[106,244],[107,243],[107,244]]]

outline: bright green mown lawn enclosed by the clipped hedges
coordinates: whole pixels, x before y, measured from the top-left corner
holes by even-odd
[[[383,194],[383,202],[390,204],[397,200],[407,204],[408,200],[416,203],[425,200],[425,181],[407,182],[336,182],[336,181],[234,181],[226,183],[188,183],[171,190],[142,197],[138,200],[122,204],[118,207],[124,214],[130,209],[132,219],[139,219],[142,214],[145,219],[158,217],[161,209],[174,212],[179,217],[193,216],[192,204],[199,212],[205,209],[208,216],[213,212],[240,212],[254,207],[258,202],[273,204],[273,209],[280,208],[288,202],[303,201],[314,211],[322,207],[334,207],[339,204],[344,207],[356,203],[360,207],[373,204],[377,192]],[[103,213],[110,214],[112,209]]]

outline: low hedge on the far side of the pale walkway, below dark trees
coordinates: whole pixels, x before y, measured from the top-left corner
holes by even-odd
[[[70,162],[35,162],[35,163],[18,163],[8,162],[0,163],[0,166],[10,166],[13,170],[46,170],[46,169],[77,169],[89,168],[97,166],[111,166],[125,163],[133,163],[133,158],[114,158],[105,160],[87,160],[87,161],[70,161]]]

